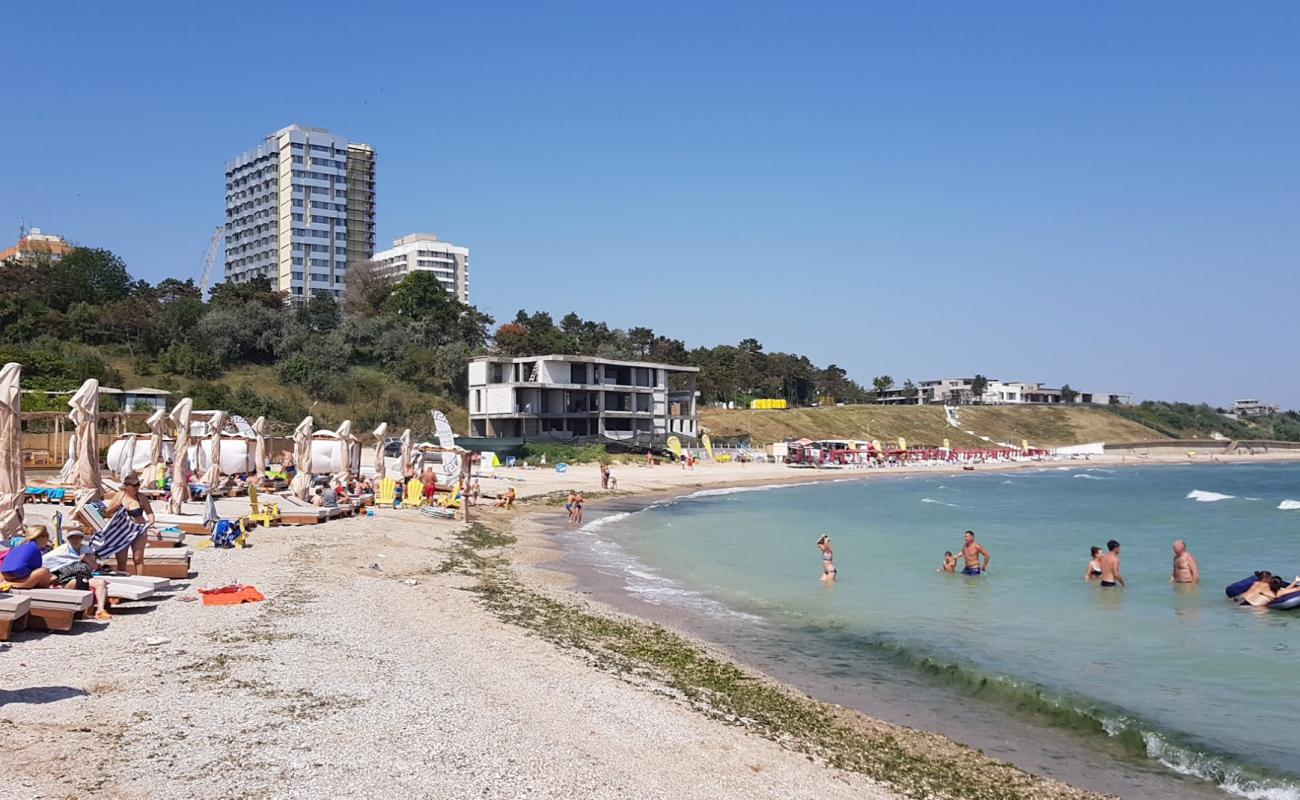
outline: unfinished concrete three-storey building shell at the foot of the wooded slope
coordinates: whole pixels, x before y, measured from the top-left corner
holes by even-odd
[[[585,355],[469,362],[469,434],[603,437],[662,444],[699,436],[698,367]],[[670,376],[682,384],[670,389]]]

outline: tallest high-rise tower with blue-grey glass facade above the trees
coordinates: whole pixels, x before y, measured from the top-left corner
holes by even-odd
[[[270,278],[291,303],[341,297],[374,255],[374,150],[290,125],[226,164],[226,280]]]

